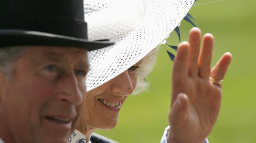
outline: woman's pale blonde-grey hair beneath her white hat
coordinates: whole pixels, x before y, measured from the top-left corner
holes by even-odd
[[[146,91],[149,83],[145,81],[145,78],[151,73],[153,68],[155,67],[156,56],[159,50],[160,45],[154,48],[151,52],[149,52],[144,58],[141,59],[141,64],[139,65],[138,77],[137,77],[137,85],[133,90],[132,95],[139,94],[142,91]]]

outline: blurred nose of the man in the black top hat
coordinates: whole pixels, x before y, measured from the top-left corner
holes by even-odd
[[[83,92],[80,91],[77,77],[74,73],[66,73],[59,80],[60,93],[58,99],[68,101],[73,105],[80,105],[84,100]],[[86,89],[84,89],[85,91]]]

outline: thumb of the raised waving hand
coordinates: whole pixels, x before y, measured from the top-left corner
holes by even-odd
[[[169,113],[169,124],[174,128],[182,127],[186,124],[188,117],[189,99],[185,93],[179,93]]]

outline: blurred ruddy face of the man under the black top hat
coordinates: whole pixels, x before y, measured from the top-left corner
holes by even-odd
[[[1,138],[66,143],[83,108],[87,71],[86,49],[29,48],[16,62],[12,81],[0,76]]]

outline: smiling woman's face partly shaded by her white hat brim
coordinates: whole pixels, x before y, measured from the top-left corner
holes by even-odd
[[[86,126],[86,128],[112,129],[116,126],[119,110],[137,84],[139,64],[133,65],[107,83],[87,92],[80,121],[82,128]]]

